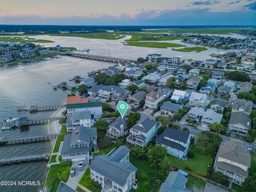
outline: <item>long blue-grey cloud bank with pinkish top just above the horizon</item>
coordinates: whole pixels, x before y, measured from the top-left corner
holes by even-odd
[[[91,14],[86,17],[42,18],[38,15],[4,15],[1,24],[10,25],[256,25],[256,11],[211,12],[209,9],[137,9],[119,15]],[[189,19],[188,19],[189,18]]]

